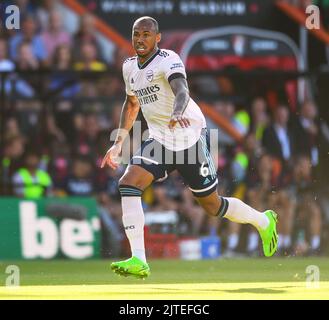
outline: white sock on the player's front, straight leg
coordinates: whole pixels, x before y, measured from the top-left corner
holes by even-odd
[[[131,254],[146,262],[144,212],[141,197],[121,197],[122,222],[130,243]]]

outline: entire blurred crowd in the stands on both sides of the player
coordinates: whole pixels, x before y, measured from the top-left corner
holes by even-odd
[[[117,50],[113,62],[105,62],[88,14],[71,34],[56,1],[16,3],[21,8],[21,30],[0,30],[0,71],[23,71],[1,80],[7,97],[2,114],[1,194],[34,199],[96,197],[103,254],[120,255],[124,234],[117,185],[125,166],[115,172],[101,170],[100,162],[110,146],[110,133],[119,124],[125,55]],[[31,73],[36,70],[51,72]],[[72,70],[102,73],[82,75]],[[192,95],[201,87],[193,83]],[[321,134],[317,106],[305,101],[292,112],[285,102],[269,104],[259,94],[248,98],[243,108],[230,99],[212,103],[243,136],[238,144],[219,130],[219,153],[213,155],[219,192],[258,210],[278,212],[280,255],[319,254],[327,227],[322,199],[328,198],[318,184],[320,147],[327,148],[328,141]],[[207,121],[210,129],[219,129]],[[259,238],[252,229],[207,217],[175,172],[145,191],[143,205],[146,212],[176,211],[182,236],[219,234],[226,256],[259,254]]]

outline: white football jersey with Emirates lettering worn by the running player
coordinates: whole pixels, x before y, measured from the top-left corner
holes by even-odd
[[[191,126],[181,128],[177,123],[173,131],[168,128],[175,100],[169,82],[180,76],[186,78],[184,64],[174,51],[159,49],[141,66],[137,56],[128,58],[122,72],[127,95],[139,100],[150,138],[173,151],[187,149],[199,140],[206,120],[192,98],[184,111]]]

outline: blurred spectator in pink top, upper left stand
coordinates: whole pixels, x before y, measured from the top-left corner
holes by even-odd
[[[70,35],[63,30],[62,26],[59,11],[51,11],[49,14],[49,27],[41,34],[49,59],[52,58],[58,46],[71,44]]]

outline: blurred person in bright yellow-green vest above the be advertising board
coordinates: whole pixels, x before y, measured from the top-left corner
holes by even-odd
[[[39,153],[28,150],[24,156],[24,166],[12,177],[14,194],[18,197],[40,199],[50,195],[52,179],[49,174],[39,169]]]

